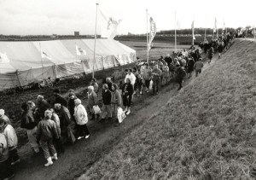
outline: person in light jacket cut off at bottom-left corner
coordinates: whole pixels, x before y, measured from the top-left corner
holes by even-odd
[[[8,142],[6,136],[0,132],[0,179],[10,179],[14,176],[9,157]]]

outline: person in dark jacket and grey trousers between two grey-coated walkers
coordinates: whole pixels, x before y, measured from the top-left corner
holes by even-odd
[[[102,121],[105,119],[111,119],[111,92],[108,90],[108,84],[102,86]]]

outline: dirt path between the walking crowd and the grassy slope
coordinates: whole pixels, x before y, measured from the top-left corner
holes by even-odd
[[[206,63],[203,72],[209,66],[211,65]],[[193,78],[186,79],[184,85],[189,84]],[[20,154],[21,162],[15,166],[14,179],[73,179],[79,177],[90,165],[111,152],[113,145],[121,142],[123,137],[133,131],[134,127],[150,119],[170,98],[176,96],[179,93],[177,87],[177,84],[169,84],[161,88],[157,96],[147,94],[139,98],[135,97],[131,106],[131,114],[118,127],[114,126],[113,121],[104,123],[90,121],[90,138],[79,140],[72,146],[66,146],[65,154],[62,154],[52,166],[44,167],[43,154],[24,155],[24,157]],[[182,92],[183,90],[180,91]]]

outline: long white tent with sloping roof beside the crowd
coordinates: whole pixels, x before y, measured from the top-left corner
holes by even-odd
[[[86,55],[76,55],[76,44]],[[41,50],[47,57],[41,57]],[[72,39],[34,42],[0,42],[0,91],[63,78],[77,73],[92,73],[136,61],[136,51],[113,39]],[[3,59],[3,58],[2,58]]]

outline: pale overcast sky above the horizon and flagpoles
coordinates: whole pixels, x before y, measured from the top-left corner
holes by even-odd
[[[106,16],[122,19],[119,34],[145,33],[146,9],[157,30],[173,29],[175,13],[180,28],[254,26],[256,1],[203,0],[0,0],[0,34],[94,34],[96,3]],[[99,18],[100,18],[100,14]],[[98,33],[100,33],[100,20]]]

